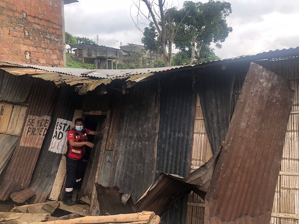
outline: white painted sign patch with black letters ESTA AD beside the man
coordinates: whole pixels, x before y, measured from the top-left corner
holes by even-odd
[[[72,121],[57,118],[49,151],[63,153],[67,139],[67,132],[71,129]]]

